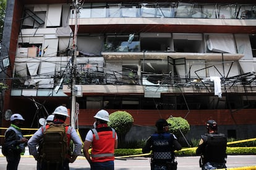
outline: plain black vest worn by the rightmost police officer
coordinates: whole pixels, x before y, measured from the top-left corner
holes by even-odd
[[[226,158],[227,138],[224,134],[205,134],[206,146],[203,151],[204,163],[224,163]]]

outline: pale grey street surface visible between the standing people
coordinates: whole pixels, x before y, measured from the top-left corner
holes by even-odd
[[[181,156],[177,157],[178,170],[200,170],[198,166],[199,156]],[[0,169],[6,169],[6,158],[0,156]],[[244,166],[256,166],[256,155],[228,155],[227,164],[228,168],[239,168]],[[116,159],[114,161],[116,170],[149,170],[149,158],[128,158]],[[34,170],[36,169],[36,161],[32,156],[22,156],[19,164],[20,170]],[[90,166],[83,156],[79,156],[77,160],[70,164],[70,170],[89,170]]]

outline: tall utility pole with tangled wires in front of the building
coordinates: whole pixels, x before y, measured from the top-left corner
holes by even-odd
[[[73,56],[72,56],[72,87],[71,87],[71,113],[70,113],[70,123],[73,128],[75,128],[75,115],[76,115],[76,89],[75,89],[75,77],[77,72],[77,20],[79,14],[79,2],[78,0],[73,0],[75,6],[75,30],[74,30],[74,41],[73,41]]]

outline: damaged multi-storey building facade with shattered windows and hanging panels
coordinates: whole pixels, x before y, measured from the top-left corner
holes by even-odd
[[[75,76],[80,129],[107,109],[134,117],[127,140],[171,116],[189,122],[187,138],[199,138],[208,119],[228,137],[255,137],[255,33],[251,0],[8,0],[2,125],[7,109],[30,127],[60,104],[70,109]]]

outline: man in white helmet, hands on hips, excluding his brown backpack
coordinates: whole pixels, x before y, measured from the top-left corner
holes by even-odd
[[[67,108],[64,106],[58,106],[54,110],[54,121],[53,123],[48,123],[45,126],[38,129],[35,134],[28,140],[28,148],[30,151],[30,155],[33,155],[36,161],[39,161],[40,166],[38,166],[38,169],[54,169],[54,170],[66,170],[69,169],[69,163],[74,163],[77,156],[81,153],[82,148],[82,142],[80,140],[79,135],[73,129],[70,125],[65,125],[64,122],[66,121],[66,118],[69,117],[67,113]],[[44,155],[40,155],[38,150],[36,150],[36,146],[39,145],[40,140],[42,140],[45,136],[44,133],[47,129],[50,128],[51,125],[64,125],[66,129],[66,136],[67,136],[67,146],[70,144],[70,140],[74,143],[74,151],[72,155],[67,154],[65,156],[65,160],[63,163],[49,163],[46,161],[47,158]],[[69,151],[70,153],[70,151]],[[53,153],[58,154],[58,153]]]

